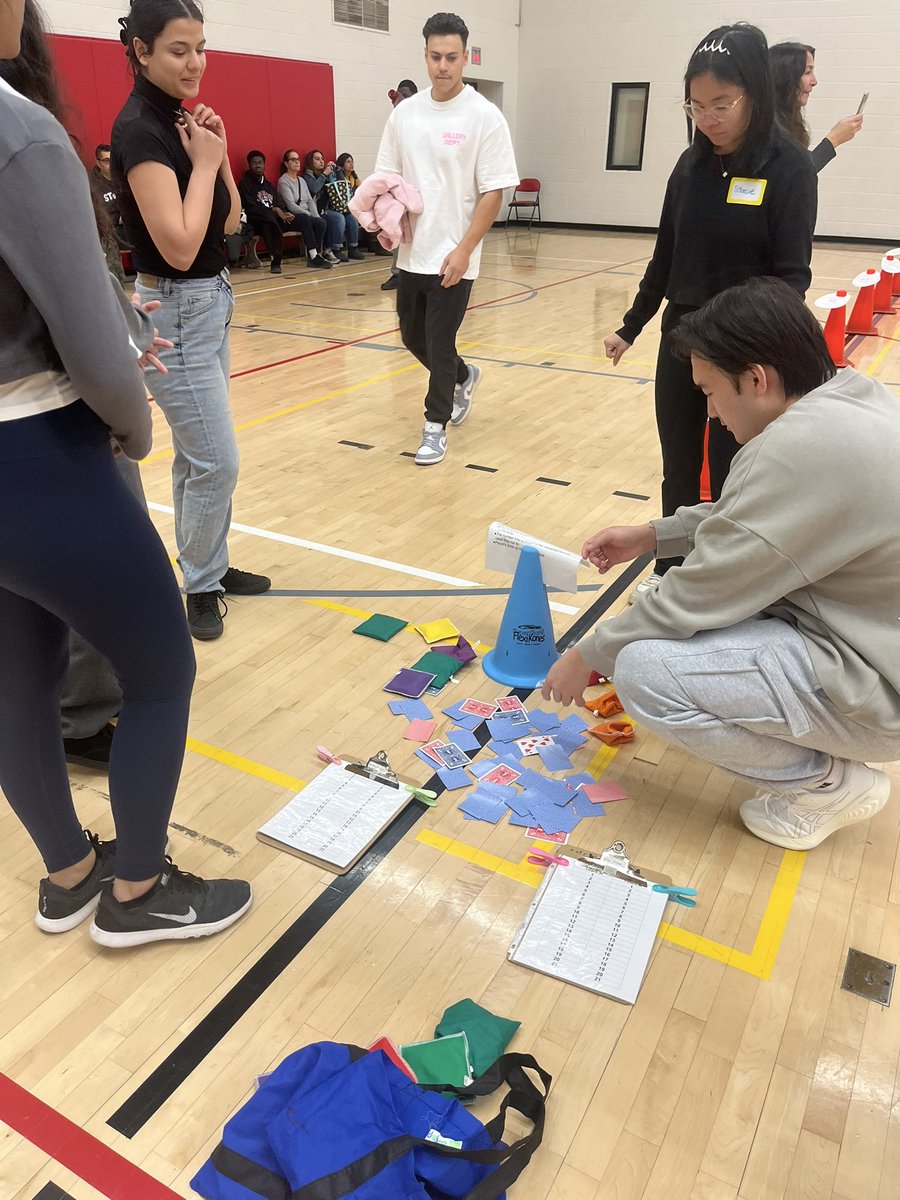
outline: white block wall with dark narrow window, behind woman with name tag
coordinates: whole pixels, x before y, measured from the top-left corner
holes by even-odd
[[[655,227],[685,145],[688,59],[734,20],[816,47],[814,144],[870,92],[863,132],[820,175],[817,233],[900,242],[900,0],[522,0],[516,150],[542,180],[544,216]],[[612,83],[650,84],[641,172],[606,170]]]

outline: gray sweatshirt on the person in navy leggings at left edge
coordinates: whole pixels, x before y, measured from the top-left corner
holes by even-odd
[[[151,340],[151,320],[107,270],[68,136],[0,80],[0,384],[65,372],[128,457],[143,458],[150,406],[134,347]]]

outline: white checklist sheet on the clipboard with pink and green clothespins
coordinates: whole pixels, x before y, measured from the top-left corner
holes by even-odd
[[[378,784],[329,763],[257,836],[342,874],[409,800],[406,787]]]

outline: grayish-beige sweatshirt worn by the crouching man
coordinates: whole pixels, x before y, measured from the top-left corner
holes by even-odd
[[[846,368],[736,456],[715,504],[653,521],[686,554],[631,608],[578,643],[613,674],[630,642],[685,640],[757,613],[802,635],[835,707],[900,732],[900,398]]]

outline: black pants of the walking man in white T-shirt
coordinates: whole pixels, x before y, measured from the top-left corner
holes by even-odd
[[[454,390],[469,371],[456,353],[456,332],[472,294],[472,280],[442,288],[439,275],[397,274],[397,317],[403,344],[430,372],[425,420],[446,425]]]

